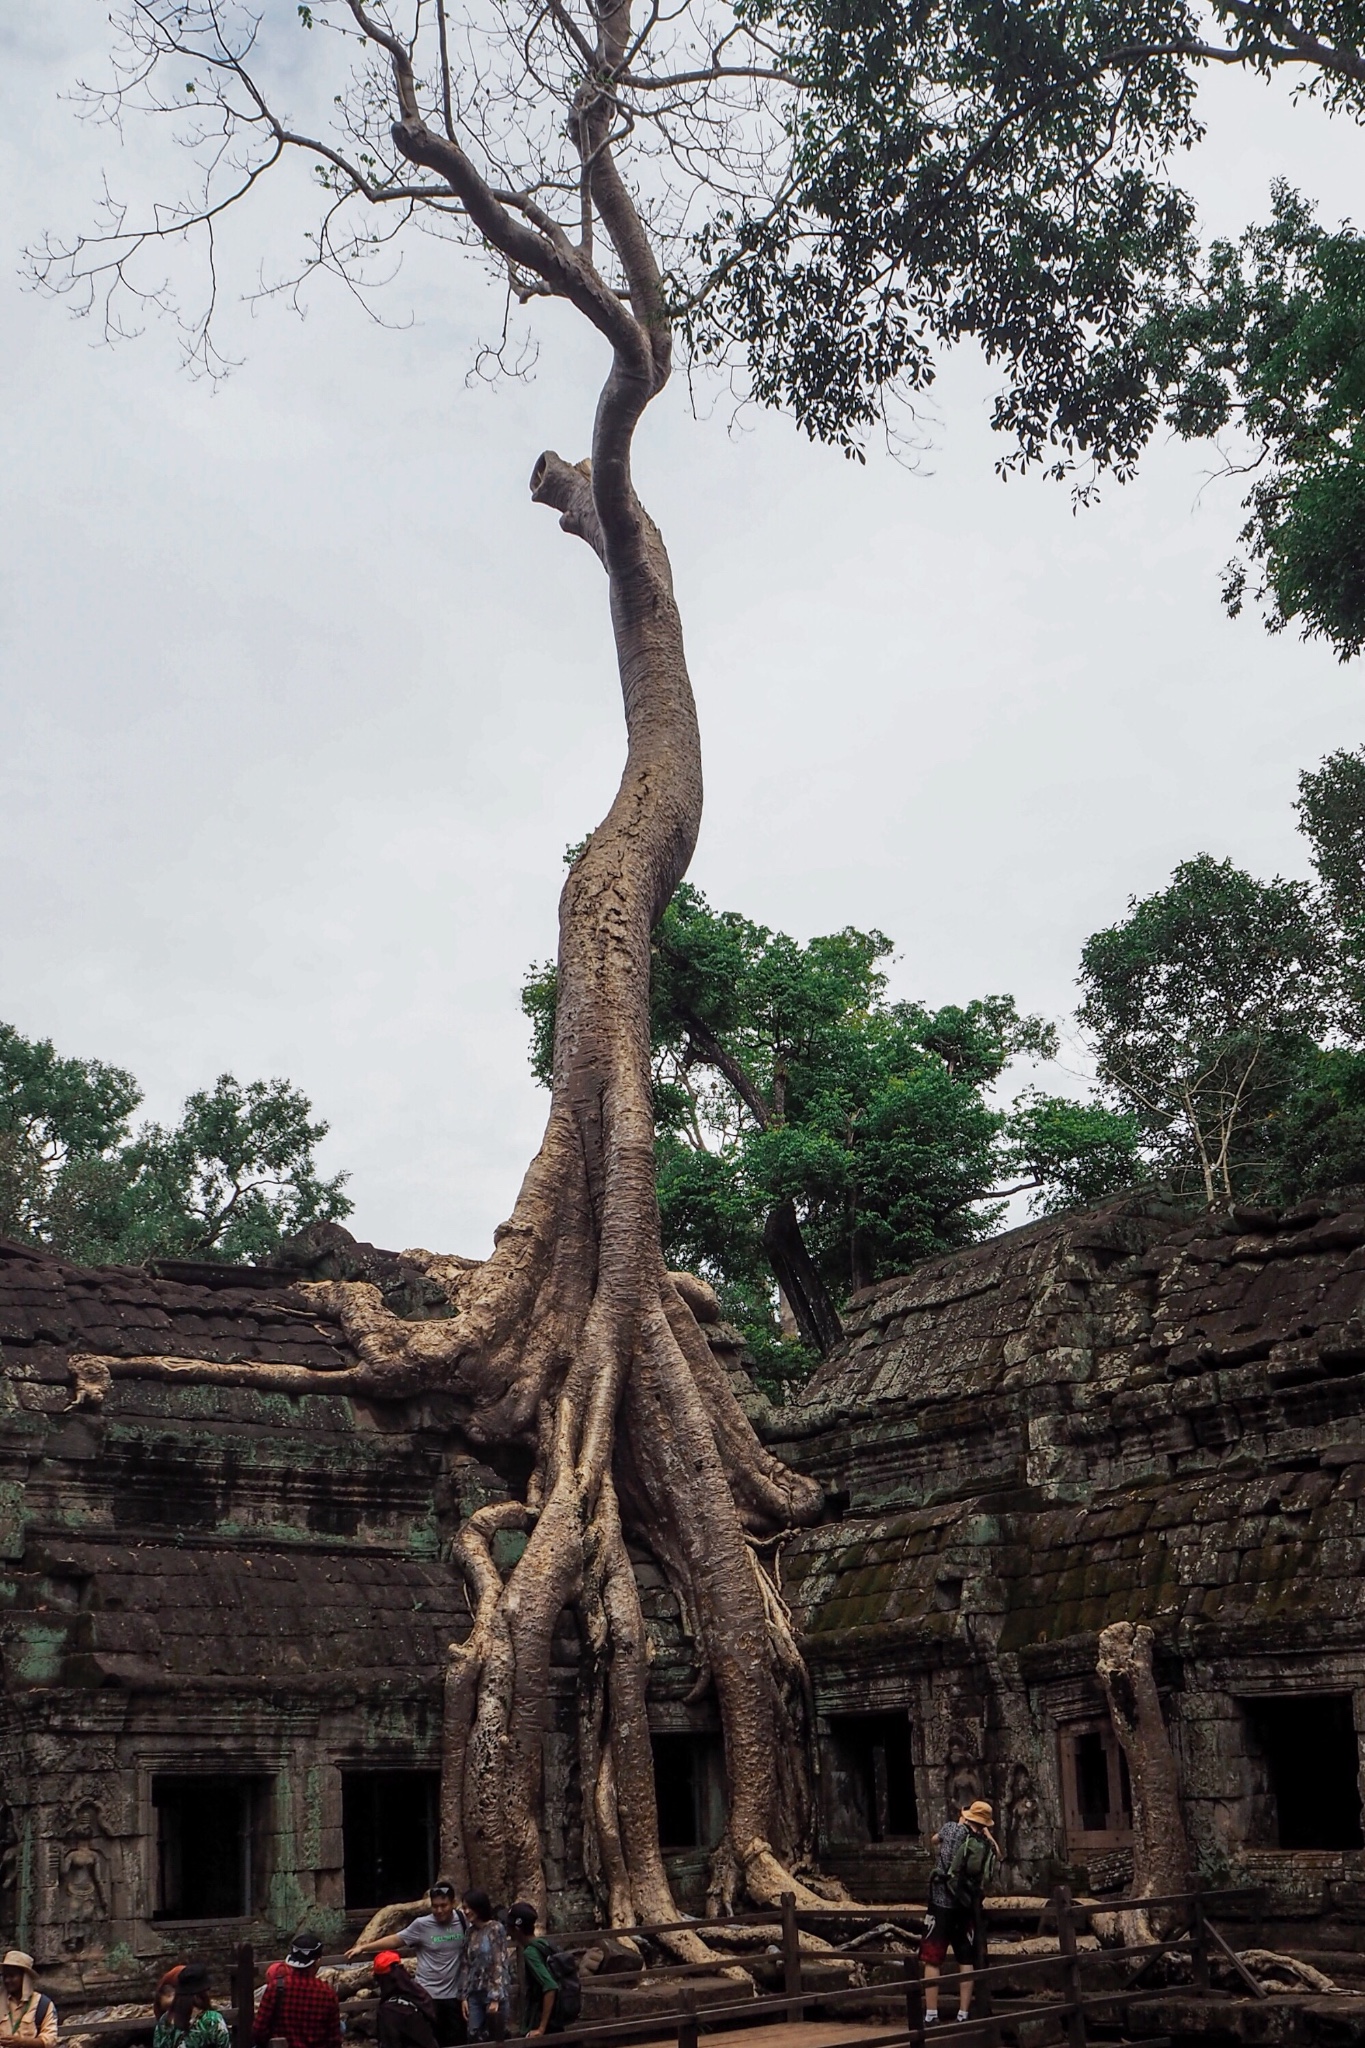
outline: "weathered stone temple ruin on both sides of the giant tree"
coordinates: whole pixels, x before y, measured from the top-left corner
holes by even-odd
[[[254,1389],[254,1362],[350,1362],[299,1278],[444,1309],[336,1227],[297,1260],[90,1272],[0,1243],[0,1935],[57,1982],[145,1982],[194,1923],[274,1952],[305,1917],[340,1935],[432,1876],[440,1653],[469,1626],[448,1544],[524,1473],[487,1464],[440,1397]],[[984,1794],[1007,1890],[1119,1890],[1132,1798],[1097,1634],[1148,1622],[1197,1874],[1263,1888],[1250,1939],[1361,1950],[1365,1210],[1191,1223],[1128,1202],[1029,1225],[862,1294],[782,1409],[743,1380],[735,1331],[710,1341],[827,1491],[827,1522],[780,1552],[825,1872],[923,1898],[933,1827]],[[92,1376],[100,1358],[123,1372]],[[239,1362],[241,1382],[176,1384],[174,1358]],[[663,1575],[634,1556],[663,1837],[700,1905],[720,1739]],[[593,1917],[575,1659],[565,1628],[561,1925]],[[235,1858],[209,1853],[225,1839]]]

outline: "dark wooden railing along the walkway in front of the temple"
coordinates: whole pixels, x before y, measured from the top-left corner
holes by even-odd
[[[1056,1919],[1056,1954],[1009,1958],[1007,1962],[995,1964],[988,1958],[984,1915],[978,1915],[976,1962],[970,1972],[974,2013],[968,2021],[952,2023],[950,2032],[954,2048],[958,2048],[960,2042],[970,2042],[970,2048],[1001,2048],[1001,2030],[1013,2030],[1021,2019],[1054,2021],[1060,2036],[1066,2040],[1066,2048],[1087,2048],[1087,2011],[1093,2011],[1097,2005],[1132,2005],[1134,2001],[1169,1997],[1164,1989],[1152,1989],[1150,1985],[1144,1989],[1142,1978],[1160,1956],[1171,1954],[1187,1954],[1191,1958],[1191,1985],[1197,1995],[1209,1989],[1209,1960],[1214,1952],[1218,1952],[1242,1980],[1244,1991],[1263,1999],[1263,1987],[1257,1985],[1257,1980],[1242,1968],[1232,1946],[1209,1921],[1212,1907],[1232,1901],[1252,1901],[1254,1896],[1254,1890],[1242,1888],[1177,1892],[1162,1898],[1105,1898],[1078,1905],[1070,1890],[1062,1886],[1052,1894],[1044,1913],[1044,1919]],[[896,1980],[841,1987],[808,1985],[802,1980],[802,1925],[806,1925],[808,1931],[817,1931],[819,1923],[847,1923],[855,1919],[886,1921],[892,1913],[894,1909],[886,1907],[798,1909],[794,1894],[786,1892],[782,1907],[765,1913],[737,1913],[724,1919],[669,1921],[649,1927],[585,1927],[555,1931],[553,1942],[557,1948],[589,1948],[610,1933],[618,1933],[622,1937],[659,1937],[669,1933],[704,1935],[708,1927],[772,1927],[774,1933],[780,1931],[782,1956],[782,1991],[776,1995],[737,1999],[733,2005],[708,2003],[700,2007],[688,1980],[702,1974],[714,1978],[729,1970],[755,1970],[772,1966],[769,1958],[735,1954],[720,1956],[714,1962],[667,1962],[620,1976],[587,1978],[585,1982],[589,1985],[616,1982],[622,1991],[639,1985],[677,1985],[677,2007],[663,2005],[649,2013],[641,2013],[634,2019],[612,2017],[567,2028],[565,2032],[555,2034],[555,2048],[593,2048],[593,2044],[604,2044],[604,2048],[606,2044],[620,2044],[620,2048],[628,2048],[630,2042],[663,2042],[669,2038],[677,2042],[677,2048],[698,2048],[702,2028],[753,2025],[755,2021],[796,2021],[806,2017],[806,2009],[810,2005],[819,2005],[821,2015],[829,2019],[837,2019],[843,2009],[851,2009],[851,2017],[862,2017],[870,2005],[890,2007],[896,2013],[896,2021],[890,2028],[882,2023],[876,2025],[872,2034],[855,2034],[849,2030],[847,2038],[841,2036],[839,2048],[925,2048],[925,1972],[919,1956],[905,1956],[900,1950],[866,1948],[855,1952],[829,1950],[817,1952],[814,1956],[806,1952],[804,1960],[817,1966],[825,1962],[892,1964],[898,1974]],[[1109,1917],[1119,1913],[1160,1913],[1169,1919],[1171,1933],[1152,1942],[1126,1944],[1121,1948],[1083,1950],[1078,1946],[1076,1935],[1085,1931],[1091,1917]],[[327,1958],[327,1962],[332,1966],[340,1966],[346,1958],[336,1956]],[[1138,1964],[1138,1968],[1126,1980],[1115,1985],[1113,1972],[1117,1964]],[[1105,1985],[1087,1987],[1087,1972],[1091,1966],[1103,1966],[1107,1976]],[[252,2048],[256,1958],[250,1944],[244,1944],[237,1950],[231,1976],[231,2003],[221,2007],[221,2011],[229,2021],[233,2048]],[[1021,1976],[1036,1980],[1040,1993],[1046,1995],[1033,2001],[1029,2001],[1027,1993],[1023,1999],[1011,1995],[1005,2011],[997,2011],[995,1991],[1009,1982],[1011,1993],[1017,1993],[1017,1980]],[[954,1995],[964,1980],[964,1970],[945,1968],[937,1976],[939,1987]],[[354,2017],[360,2017],[362,2013],[375,2015],[375,2001],[346,1999],[342,2003],[342,2013]],[[125,2042],[129,2042],[141,2032],[149,2032],[149,2019],[145,2025],[131,2019],[92,2021],[88,2025],[76,2021],[72,2028],[65,2028],[63,2034],[98,2036],[117,2032]]]

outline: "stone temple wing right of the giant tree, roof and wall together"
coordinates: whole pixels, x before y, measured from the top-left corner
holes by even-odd
[[[1365,1855],[1279,1845],[1257,1726],[1336,1731],[1312,1704],[1336,1698],[1365,1729],[1365,1212],[1115,1206],[925,1264],[851,1305],[765,1434],[839,1507],[782,1561],[825,1757],[841,1716],[911,1722],[921,1833],[827,1841],[839,1874],[921,1892],[931,1827],[982,1792],[1009,1886],[1121,1882],[1124,1841],[1068,1827],[1062,1759],[1103,1722],[1097,1632],[1142,1620],[1201,1874],[1359,1939]]]

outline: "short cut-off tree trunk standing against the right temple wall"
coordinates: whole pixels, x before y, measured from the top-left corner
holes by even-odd
[[[1136,1898],[1160,1898],[1189,1888],[1189,1845],[1181,1812],[1181,1780],[1152,1675],[1152,1630],[1111,1622],[1099,1632],[1099,1681],[1109,1702],[1113,1733],[1128,1757],[1134,1802]],[[1124,1939],[1150,1942],[1152,1915],[1119,1915],[1130,1925]],[[1166,1915],[1158,1915],[1166,1919]]]

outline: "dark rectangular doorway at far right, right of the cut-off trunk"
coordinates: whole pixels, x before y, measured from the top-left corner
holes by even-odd
[[[1347,1692],[1242,1700],[1269,1778],[1279,1849],[1361,1849],[1361,1745]]]

